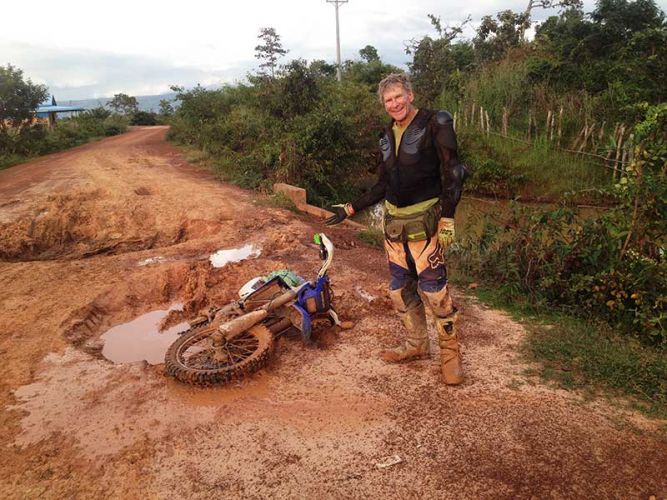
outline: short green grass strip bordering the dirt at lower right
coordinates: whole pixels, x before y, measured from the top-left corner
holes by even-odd
[[[667,418],[664,350],[642,345],[606,324],[541,306],[509,303],[498,289],[480,286],[474,294],[526,327],[528,336],[521,351],[526,359],[538,363],[536,374],[543,379],[564,389],[629,404],[647,416]]]

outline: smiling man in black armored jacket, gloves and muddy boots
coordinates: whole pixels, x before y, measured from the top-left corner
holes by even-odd
[[[380,139],[378,182],[353,203],[333,207],[328,225],[385,199],[389,294],[407,330],[405,342],[382,352],[389,363],[428,357],[424,303],[435,317],[443,380],[463,382],[456,334],[457,310],[447,286],[444,252],[454,240],[454,211],[466,167],[458,161],[452,116],[418,110],[406,75],[392,73],[378,86],[392,119]]]

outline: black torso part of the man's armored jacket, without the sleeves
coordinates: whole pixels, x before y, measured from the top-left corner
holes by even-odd
[[[434,112],[420,109],[403,132],[396,155],[394,133],[384,130],[380,152],[387,174],[386,199],[397,207],[437,198],[442,191],[440,158],[433,145],[430,126]]]

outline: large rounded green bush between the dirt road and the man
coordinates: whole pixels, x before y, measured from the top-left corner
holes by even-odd
[[[273,182],[308,190],[327,205],[357,196],[374,174],[381,108],[362,83],[338,84],[294,61],[253,86],[182,91],[170,140],[214,159],[225,180],[262,189]],[[291,104],[290,104],[291,103]]]

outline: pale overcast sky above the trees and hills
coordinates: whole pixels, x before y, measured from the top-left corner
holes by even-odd
[[[667,0],[658,0],[664,11]],[[257,68],[259,29],[274,27],[294,58],[336,57],[335,14],[325,0],[60,0],[3,2],[0,65],[23,69],[48,85],[59,100],[151,95],[172,84],[185,87],[233,83]],[[385,62],[403,66],[405,42],[433,35],[427,14],[455,25],[504,9],[521,11],[527,0],[350,0],[340,7],[343,59],[367,44]],[[102,5],[107,10],[102,10]],[[594,0],[585,0],[588,12]],[[534,13],[544,19],[555,11]],[[468,37],[472,36],[472,28]]]

